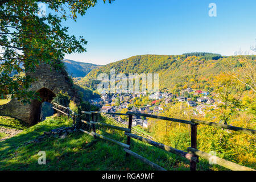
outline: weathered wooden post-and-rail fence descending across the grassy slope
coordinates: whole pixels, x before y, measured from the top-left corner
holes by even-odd
[[[55,104],[55,105],[57,105],[57,104]],[[60,105],[57,105],[57,106],[60,106]],[[67,112],[65,113],[64,111],[58,110],[55,107],[53,107],[53,109],[55,109],[57,111],[60,111],[61,113],[65,114],[65,115],[68,115],[69,117],[71,117],[71,115],[68,113],[69,111],[72,112],[72,114],[75,114],[68,107],[64,107],[64,106],[60,106],[60,107],[63,107],[63,109],[67,109]],[[123,150],[126,152],[126,156],[129,156],[129,155],[134,156],[134,158],[137,158],[137,159],[141,160],[142,162],[150,165],[152,168],[155,168],[157,170],[166,171],[166,169],[158,166],[157,164],[151,162],[150,160],[147,160],[146,158],[143,158],[143,156],[138,155],[135,152],[131,151],[131,138],[141,140],[142,142],[146,142],[148,144],[151,144],[152,146],[158,147],[162,150],[171,152],[173,154],[179,155],[179,156],[189,160],[191,171],[196,171],[196,164],[199,162],[199,156],[203,159],[206,159],[206,160],[214,159],[214,162],[216,164],[218,164],[222,167],[234,170],[234,171],[255,171],[254,169],[244,167],[244,166],[241,166],[241,165],[233,163],[233,162],[229,162],[228,160],[218,158],[217,156],[210,155],[206,152],[197,150],[196,148],[197,148],[197,125],[200,125],[200,124],[201,125],[208,125],[208,126],[218,127],[218,128],[221,128],[221,129],[239,131],[239,132],[246,133],[246,134],[251,134],[251,135],[255,135],[256,130],[243,129],[241,127],[230,126],[230,125],[222,125],[220,123],[200,121],[198,119],[191,119],[191,121],[186,121],[186,120],[183,120],[183,119],[168,118],[168,117],[163,117],[163,116],[159,116],[159,115],[151,115],[151,114],[133,113],[133,112],[130,112],[130,111],[127,111],[125,114],[123,114],[123,113],[102,113],[102,112],[99,112],[99,111],[81,111],[81,113],[91,116],[92,119],[90,121],[84,121],[84,120],[81,119],[81,121],[79,121],[79,122],[83,122],[86,125],[90,126],[93,131],[88,132],[88,131],[85,131],[85,130],[82,130],[82,129],[80,129],[80,131],[82,131],[83,133],[86,133],[88,135],[91,135],[94,138],[101,138],[103,140],[107,140],[109,142],[118,144],[119,146],[123,147]],[[96,121],[96,115],[100,115],[100,114],[126,115],[127,117],[129,117],[128,127],[119,127],[119,126],[114,126],[114,125],[109,125],[109,124],[106,124],[106,123],[98,122],[98,121]],[[191,125],[191,146],[188,147],[187,152],[186,151],[181,151],[181,150],[177,150],[176,148],[166,146],[162,143],[155,142],[151,139],[144,138],[144,137],[132,134],[131,131],[132,131],[132,122],[133,122],[133,116],[134,115],[143,116],[143,117],[147,117],[147,118],[162,119],[162,120],[166,120],[166,121],[185,123],[187,125]],[[75,119],[73,119],[73,121],[75,122]],[[108,137],[105,137],[103,135],[97,134],[96,133],[96,127],[98,127],[98,126],[108,127],[108,128],[119,130],[119,131],[125,131],[125,135],[127,136],[127,143],[125,144],[125,143],[122,143],[122,142],[118,142],[117,140],[114,140],[112,138],[108,138]]]

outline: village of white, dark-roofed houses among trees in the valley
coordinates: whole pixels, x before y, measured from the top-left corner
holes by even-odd
[[[140,104],[139,101],[143,101],[143,104]],[[109,94],[104,92],[100,97],[90,100],[91,104],[101,107],[102,113],[125,113],[126,111],[131,111],[153,115],[163,113],[165,107],[175,105],[177,102],[183,102],[190,107],[194,115],[205,115],[207,109],[216,108],[216,103],[220,101],[214,101],[213,94],[207,91],[193,90],[192,88],[180,90],[176,94],[170,92]],[[127,118],[122,118],[119,115],[113,115],[113,118],[123,124],[128,123]],[[135,116],[133,126],[147,128],[147,118]]]

